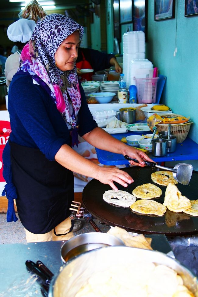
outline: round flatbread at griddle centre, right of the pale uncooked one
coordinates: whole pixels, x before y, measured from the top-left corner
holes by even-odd
[[[143,184],[141,186],[137,186],[132,194],[137,198],[141,199],[152,199],[161,196],[162,191],[159,187],[153,184]]]

